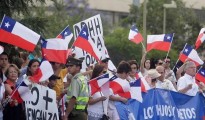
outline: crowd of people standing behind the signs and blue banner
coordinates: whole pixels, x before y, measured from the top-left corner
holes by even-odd
[[[32,76],[40,66],[38,59],[28,59],[27,52],[9,56],[0,54],[0,120],[24,120],[25,104],[19,99],[11,99],[12,92],[27,76]],[[121,61],[117,70],[108,69],[110,58],[101,60],[81,72],[82,58],[71,55],[65,65],[50,62],[54,74],[45,82],[39,83],[55,90],[60,120],[119,120],[115,102],[126,103],[127,98],[109,92],[109,95],[98,91],[90,94],[88,81],[105,73],[116,75],[127,83],[136,80],[136,73],[141,72],[150,89],[160,88],[195,96],[197,92],[205,92],[202,82],[196,84],[197,67],[187,60],[176,73],[170,68],[171,58],[165,57],[153,62],[142,56],[141,63],[136,60]],[[137,92],[137,91],[136,91]],[[8,101],[9,99],[9,101]],[[63,101],[62,101],[63,100]],[[7,101],[7,102],[5,102]],[[106,106],[107,105],[107,106]]]

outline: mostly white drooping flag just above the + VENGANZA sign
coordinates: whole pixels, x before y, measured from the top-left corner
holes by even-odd
[[[53,74],[54,72],[51,64],[47,60],[44,60],[36,70],[35,74],[29,77],[29,80],[39,83],[48,80],[48,78]]]

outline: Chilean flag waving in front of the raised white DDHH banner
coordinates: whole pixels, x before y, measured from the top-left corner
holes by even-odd
[[[76,38],[73,46],[79,47],[82,50],[88,52],[93,56],[97,61],[100,60],[101,54],[97,49],[97,46],[93,43],[88,34],[88,28],[86,25],[83,26],[82,30],[79,33],[79,36]]]

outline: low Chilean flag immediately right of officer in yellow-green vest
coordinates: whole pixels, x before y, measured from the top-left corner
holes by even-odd
[[[94,78],[89,81],[89,87],[91,90],[91,95],[95,94],[96,92],[100,91],[100,88],[109,81],[109,74],[103,74],[97,78]]]

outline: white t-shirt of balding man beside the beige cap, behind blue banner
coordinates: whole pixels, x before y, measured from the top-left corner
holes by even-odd
[[[167,80],[167,79],[165,79],[163,82],[160,80],[157,80],[156,88],[172,90],[172,91],[176,92],[176,89],[174,88],[174,85],[172,84],[172,82],[170,80]]]

